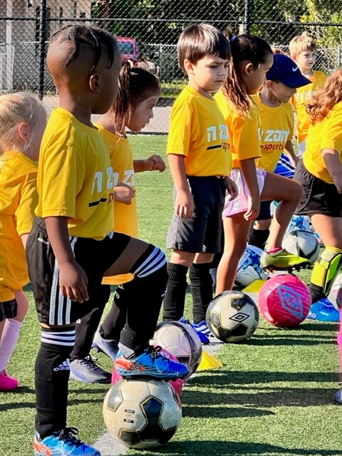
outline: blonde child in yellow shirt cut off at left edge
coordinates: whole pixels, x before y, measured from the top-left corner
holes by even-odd
[[[0,97],[0,390],[18,387],[5,368],[28,311],[25,246],[38,202],[39,145],[46,111],[31,93]]]

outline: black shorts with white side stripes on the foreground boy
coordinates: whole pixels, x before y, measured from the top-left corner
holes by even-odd
[[[129,241],[129,236],[116,232],[110,232],[100,241],[70,237],[75,259],[88,278],[89,294],[89,300],[83,303],[71,301],[61,294],[59,267],[48,242],[46,224],[37,217],[28,235],[26,259],[38,320],[49,326],[63,326],[88,314],[102,296],[103,288],[107,288],[101,285],[104,272],[120,257]]]

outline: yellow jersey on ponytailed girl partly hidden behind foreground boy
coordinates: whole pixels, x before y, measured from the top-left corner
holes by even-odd
[[[114,172],[114,187],[119,182],[129,185],[135,190],[135,174],[133,167],[133,153],[128,138],[113,135],[102,125],[95,123],[108,146],[110,163]],[[137,198],[132,199],[132,204],[123,204],[114,199],[114,229],[116,232],[138,237],[138,210]],[[109,285],[124,284],[133,279],[133,274],[120,274],[113,277],[104,277],[102,283]]]

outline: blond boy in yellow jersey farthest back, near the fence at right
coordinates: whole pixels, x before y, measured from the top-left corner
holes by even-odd
[[[312,68],[316,62],[317,46],[313,38],[306,33],[301,33],[291,39],[289,43],[290,57],[299,66],[302,75],[310,80],[310,84],[302,86],[296,91],[292,103],[296,112],[296,130],[299,146],[299,155],[303,155],[306,148],[306,136],[308,135],[310,117],[306,113],[305,103],[311,98],[318,88],[321,88],[326,75],[322,71]]]

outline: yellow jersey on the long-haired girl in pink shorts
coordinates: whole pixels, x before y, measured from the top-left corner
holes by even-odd
[[[253,103],[249,116],[237,113],[232,103],[224,96],[222,90],[214,95],[219,109],[226,120],[230,150],[232,151],[233,168],[239,168],[239,160],[259,158],[260,152],[260,118],[257,106]]]

